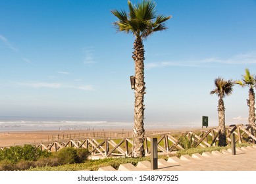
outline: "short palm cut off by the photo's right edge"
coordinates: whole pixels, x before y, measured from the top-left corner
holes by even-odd
[[[253,88],[256,87],[255,78],[250,74],[249,69],[245,68],[245,75],[242,80],[236,81],[237,84],[242,87],[249,87],[249,99],[247,99],[247,104],[249,106],[249,124],[255,124],[255,94]]]

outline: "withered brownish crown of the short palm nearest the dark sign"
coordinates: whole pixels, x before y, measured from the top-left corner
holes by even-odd
[[[211,91],[211,95],[216,94],[222,98],[232,94],[234,82],[232,80],[224,80],[223,78],[215,79],[215,89]]]

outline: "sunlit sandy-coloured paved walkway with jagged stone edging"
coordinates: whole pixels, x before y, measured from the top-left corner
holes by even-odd
[[[132,164],[121,164],[118,171],[147,171],[151,163],[139,162],[135,167]],[[111,166],[99,168],[99,171],[116,171]],[[256,171],[256,145],[236,148],[236,155],[231,150],[222,152],[203,152],[203,154],[184,155],[168,158],[168,161],[158,159],[156,171]]]

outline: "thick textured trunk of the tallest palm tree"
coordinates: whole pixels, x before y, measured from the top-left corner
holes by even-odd
[[[133,148],[132,156],[142,157],[145,156],[143,147],[143,137],[145,135],[144,130],[144,94],[145,94],[145,82],[144,82],[144,46],[142,39],[136,37],[134,42],[134,58],[135,62],[135,103],[134,103],[134,129],[133,129]]]

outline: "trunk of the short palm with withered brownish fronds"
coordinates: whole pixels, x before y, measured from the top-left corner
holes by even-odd
[[[225,107],[222,97],[218,100],[218,129],[220,134],[218,135],[218,146],[226,146],[226,127],[225,127]]]

